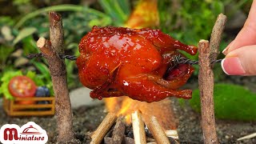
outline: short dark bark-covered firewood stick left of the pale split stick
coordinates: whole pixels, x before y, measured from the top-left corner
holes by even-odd
[[[112,138],[114,144],[121,144],[122,140],[125,138],[126,123],[124,122],[124,117],[118,117],[117,123],[114,126]]]

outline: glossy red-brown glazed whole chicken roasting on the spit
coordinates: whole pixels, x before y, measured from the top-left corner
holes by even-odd
[[[191,98],[191,90],[178,90],[194,69],[175,66],[178,50],[196,54],[160,30],[94,26],[79,43],[78,74],[93,91],[91,98],[129,96],[156,102],[167,97]]]

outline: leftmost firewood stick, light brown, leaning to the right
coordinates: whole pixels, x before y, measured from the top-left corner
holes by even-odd
[[[113,126],[115,120],[117,119],[117,115],[114,113],[109,113],[103,119],[102,123],[98,126],[97,130],[91,135],[90,144],[98,144],[102,142],[102,139],[105,137],[106,133],[110,130],[111,126]]]

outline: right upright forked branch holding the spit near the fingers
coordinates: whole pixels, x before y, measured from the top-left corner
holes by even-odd
[[[202,133],[205,143],[218,143],[214,117],[214,72],[211,62],[218,57],[218,46],[222,31],[226,23],[226,16],[219,14],[209,42],[201,40],[198,43],[199,74],[198,83],[201,98]]]

